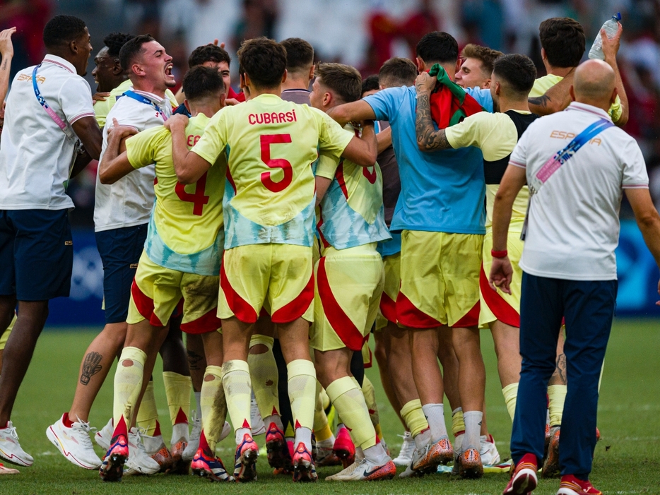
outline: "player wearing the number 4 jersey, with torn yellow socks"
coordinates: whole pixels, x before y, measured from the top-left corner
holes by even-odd
[[[213,114],[223,107],[225,85],[215,68],[200,66],[187,73],[183,84],[187,97],[184,105],[193,115],[185,129],[187,143],[192,147],[204,134]],[[126,141],[126,151],[120,154],[123,137],[123,131],[112,130],[100,163],[100,180],[112,184],[134,170],[155,163],[156,202],[131,288],[126,345],[114,380],[116,426],[100,474],[106,481],[121,478],[121,467],[128,455],[127,427],[143,388],[143,377],[149,376],[167,335],[172,311],[183,299],[181,328],[201,335],[208,363],[201,390],[204,427],[192,469],[197,475],[228,480],[222,461],[215,455],[226,414],[220,367],[222,336],[218,331],[220,320],[216,317],[224,240],[225,160],[221,156],[196,184],[184,186],[177,181],[172,165],[172,136],[167,129],[155,126],[139,133]],[[177,450],[180,456],[182,449]],[[175,457],[175,448],[172,456]]]

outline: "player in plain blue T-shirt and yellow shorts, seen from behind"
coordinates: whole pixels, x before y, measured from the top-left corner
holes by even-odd
[[[454,37],[445,32],[428,33],[420,40],[417,54],[420,71],[440,64],[453,79],[459,54]],[[467,91],[488,106],[478,90]],[[478,477],[483,473],[479,434],[485,387],[477,326],[485,232],[483,162],[476,148],[421,152],[414,133],[416,106],[415,88],[388,88],[359,102],[334,107],[329,114],[343,124],[376,118],[392,126],[401,197],[391,229],[403,231],[396,316],[411,335],[413,376],[430,426],[416,436],[413,470],[433,470],[453,458],[437,364],[439,335],[442,328],[451,327],[466,426],[461,475]],[[438,215],[440,211],[445,213]]]

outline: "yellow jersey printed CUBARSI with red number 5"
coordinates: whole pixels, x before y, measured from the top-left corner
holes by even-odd
[[[312,246],[319,152],[338,160],[352,138],[324,112],[270,94],[213,116],[192,151],[227,158],[225,249]]]

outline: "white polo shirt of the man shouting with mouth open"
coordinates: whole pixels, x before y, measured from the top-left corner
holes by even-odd
[[[107,124],[103,128],[101,161],[107,148],[107,129],[112,126],[112,119],[117,119],[122,126],[131,126],[137,131],[144,131],[155,126],[162,126],[163,122],[172,115],[172,105],[167,97],[161,98],[135,89],[133,91],[146,97],[151,104],[139,102],[128,96],[117,98],[117,102],[107,114]],[[153,165],[134,170],[114,184],[101,184],[97,172],[94,204],[95,232],[148,223],[155,201],[154,179]]]

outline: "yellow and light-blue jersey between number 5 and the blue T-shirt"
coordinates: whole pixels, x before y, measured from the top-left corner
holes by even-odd
[[[345,129],[354,135],[353,126],[346,124]],[[347,249],[391,239],[385,224],[383,176],[377,163],[360,167],[322,154],[317,176],[332,180],[319,205],[318,228],[324,246]]]

